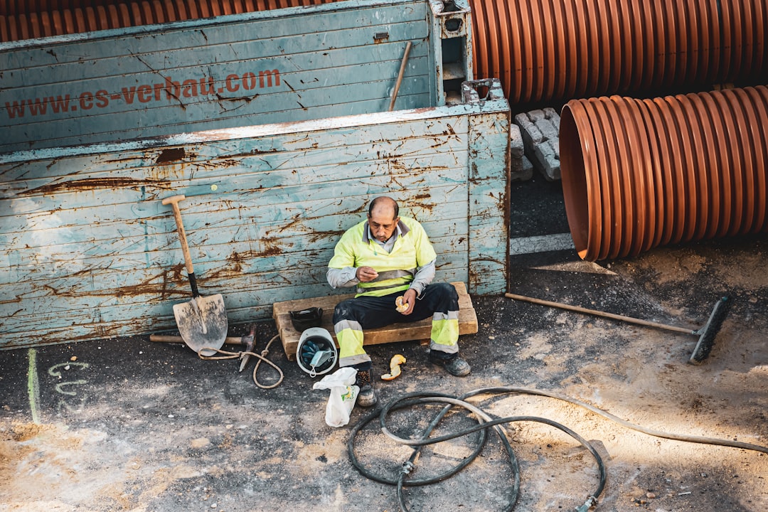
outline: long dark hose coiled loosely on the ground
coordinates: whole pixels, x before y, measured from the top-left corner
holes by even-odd
[[[590,496],[587,497],[587,499],[584,501],[584,504],[582,504],[579,507],[576,507],[576,510],[578,510],[578,512],[586,512],[586,510],[589,510],[589,508],[597,504],[598,497],[600,497],[605,487],[606,471],[605,471],[605,465],[603,463],[602,458],[600,457],[600,454],[598,454],[598,451],[595,450],[594,447],[591,444],[589,444],[588,441],[584,440],[584,438],[581,438],[579,434],[572,431],[570,428],[564,426],[563,424],[559,424],[558,422],[549,420],[547,418],[540,418],[537,416],[508,416],[506,418],[493,418],[491,415],[488,415],[488,413],[483,411],[481,408],[478,408],[475,405],[472,405],[471,403],[466,401],[467,398],[472,398],[473,396],[477,396],[477,395],[499,395],[503,393],[539,395],[539,396],[545,396],[548,398],[555,398],[561,401],[567,401],[568,403],[571,403],[573,405],[578,405],[582,408],[586,408],[589,411],[594,412],[595,414],[601,415],[603,418],[607,418],[611,421],[621,424],[626,428],[630,428],[631,430],[639,431],[644,434],[648,434],[657,438],[672,439],[675,441],[687,441],[692,443],[717,444],[720,446],[727,446],[731,448],[742,448],[745,450],[760,451],[764,454],[768,454],[768,448],[757,445],[757,444],[743,443],[741,441],[730,441],[727,439],[706,438],[706,437],[692,436],[692,435],[685,435],[685,434],[670,434],[664,431],[656,431],[649,428],[644,428],[636,424],[632,424],[629,421],[622,420],[621,418],[618,418],[617,416],[614,416],[609,412],[602,411],[601,409],[596,408],[593,405],[589,405],[585,402],[578,401],[574,398],[568,398],[563,395],[558,395],[551,391],[542,391],[539,389],[529,389],[529,388],[517,388],[514,386],[499,386],[499,387],[492,387],[492,388],[478,388],[473,391],[469,391],[465,395],[462,395],[459,397],[454,395],[445,395],[442,393],[417,391],[413,393],[406,393],[405,395],[401,395],[398,398],[394,398],[392,401],[389,401],[389,403],[387,403],[383,408],[378,408],[372,411],[369,415],[366,415],[352,428],[352,431],[350,432],[350,435],[349,435],[349,441],[347,441],[347,452],[349,454],[349,460],[352,462],[353,466],[356,467],[357,471],[360,472],[360,474],[369,478],[370,480],[377,481],[381,484],[395,485],[397,487],[397,497],[398,497],[400,510],[402,510],[402,512],[408,512],[409,509],[406,505],[406,497],[403,492],[405,487],[415,487],[415,486],[421,486],[421,485],[435,484],[436,482],[443,481],[446,478],[452,477],[453,475],[457,474],[458,471],[462,471],[464,467],[467,467],[468,464],[471,464],[472,461],[475,459],[475,457],[477,457],[478,454],[480,454],[480,452],[482,451],[482,448],[485,446],[485,441],[487,440],[487,437],[488,437],[487,436],[488,428],[493,428],[495,433],[498,435],[499,440],[502,441],[502,444],[504,445],[505,451],[507,452],[509,457],[512,473],[514,475],[513,476],[514,481],[510,491],[509,498],[508,498],[508,504],[504,509],[505,512],[511,512],[511,510],[515,508],[515,504],[517,503],[518,495],[520,491],[520,471],[519,471],[517,457],[515,457],[515,452],[512,450],[511,444],[509,443],[509,440],[505,434],[505,431],[500,427],[500,425],[513,423],[517,421],[535,421],[538,423],[548,424],[554,428],[558,428],[559,430],[564,431],[566,434],[570,435],[576,441],[581,443],[581,445],[584,446],[584,448],[587,448],[587,450],[592,454],[592,457],[594,457],[594,460],[598,465],[598,472],[600,474],[598,487],[595,489],[594,493],[592,493]],[[392,434],[392,432],[389,431],[389,428],[387,428],[386,426],[387,416],[392,411],[396,411],[398,409],[403,409],[403,408],[409,408],[415,405],[426,405],[426,404],[435,404],[435,403],[445,403],[448,405],[446,405],[445,408],[442,408],[442,410],[439,411],[437,415],[435,415],[435,418],[433,418],[432,421],[430,421],[429,425],[427,425],[427,427],[425,428],[421,438],[418,438],[418,439],[399,438],[395,434]],[[478,425],[472,428],[467,428],[462,431],[455,431],[452,434],[445,434],[439,437],[429,438],[430,434],[432,434],[432,431],[437,427],[437,425],[442,420],[442,418],[444,418],[445,415],[448,414],[448,412],[454,406],[465,408],[467,411],[470,411],[472,414],[474,414],[475,418],[478,421]],[[392,439],[393,441],[396,441],[399,444],[405,444],[406,446],[414,447],[413,452],[409,457],[409,459],[406,462],[402,463],[402,467],[400,468],[399,476],[397,479],[383,477],[382,475],[373,473],[368,468],[363,466],[362,463],[360,463],[360,461],[356,457],[356,454],[355,454],[356,436],[359,433],[359,431],[362,430],[362,428],[365,428],[366,425],[369,424],[371,421],[373,421],[375,418],[379,418],[379,426],[382,430],[382,433],[385,434],[388,438]],[[442,441],[449,441],[450,439],[459,438],[468,434],[472,434],[474,432],[480,433],[475,451],[473,451],[472,454],[470,454],[468,457],[465,457],[465,459],[462,460],[459,464],[455,465],[448,471],[445,471],[444,473],[439,474],[435,477],[423,478],[423,479],[407,478],[409,474],[411,474],[412,471],[415,469],[414,462],[416,457],[419,455],[419,452],[421,451],[422,447],[429,444],[439,443]]]

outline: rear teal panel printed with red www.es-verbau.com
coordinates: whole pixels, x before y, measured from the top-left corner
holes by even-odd
[[[399,106],[430,107],[428,9],[339,2],[6,43],[0,151],[383,111],[406,41]]]

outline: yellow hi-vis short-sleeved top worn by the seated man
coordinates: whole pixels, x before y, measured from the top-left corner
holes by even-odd
[[[379,273],[375,281],[360,282],[356,296],[384,296],[406,290],[416,269],[437,257],[429,236],[417,220],[400,217],[398,226],[400,235],[391,253],[369,238],[367,220],[346,230],[336,243],[328,263],[330,268],[370,266]]]

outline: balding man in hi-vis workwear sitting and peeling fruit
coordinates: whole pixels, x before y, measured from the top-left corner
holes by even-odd
[[[432,317],[429,361],[458,377],[469,375],[458,357],[458,294],[449,283],[434,283],[435,249],[416,220],[399,216],[391,197],[376,197],[368,218],[336,243],[328,263],[333,288],[357,286],[354,299],[336,305],[333,329],[339,342],[339,366],[357,370],[357,404],[376,404],[371,358],[362,348],[363,329]],[[397,299],[402,297],[399,308]]]

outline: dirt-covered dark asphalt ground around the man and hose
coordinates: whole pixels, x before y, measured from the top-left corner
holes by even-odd
[[[511,238],[567,233],[559,183],[512,187]],[[768,447],[768,243],[765,236],[654,249],[632,259],[585,263],[573,249],[511,256],[509,292],[697,329],[714,302],[733,307],[702,365],[687,363],[697,336],[568,312],[504,296],[473,297],[480,325],[462,336],[472,375],[426,362],[418,342],[369,348],[374,372],[406,357],[402,375],[378,382],[381,404],[424,391],[465,395],[496,418],[555,421],[588,441],[606,481],[591,510],[768,510],[768,455],[645,434],[547,391],[654,431]],[[234,325],[230,335],[247,333]],[[257,323],[257,352],[276,334]],[[225,348],[233,348],[225,345]],[[253,360],[203,361],[184,345],[147,336],[0,352],[0,511],[175,512],[399,510],[396,481],[411,448],[378,419],[353,438],[368,411],[343,428],[324,421],[327,391],[288,362],[279,340],[268,355],[283,382],[263,389]],[[270,368],[260,382],[274,382]],[[442,405],[392,411],[389,431],[420,437]],[[454,411],[434,435],[477,424]],[[520,472],[513,510],[574,510],[595,492],[598,464],[551,424],[504,424]],[[410,479],[429,480],[472,454],[478,434],[425,447]],[[381,481],[389,481],[382,483]],[[462,471],[406,487],[409,510],[509,510],[515,475],[488,434]]]

